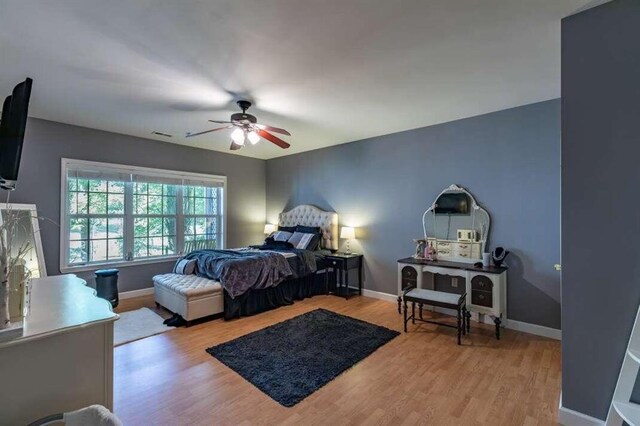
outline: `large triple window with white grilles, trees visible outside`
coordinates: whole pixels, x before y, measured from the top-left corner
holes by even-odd
[[[224,247],[224,176],[63,159],[62,180],[62,271]]]

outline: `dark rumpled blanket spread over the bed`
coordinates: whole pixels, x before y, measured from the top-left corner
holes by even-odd
[[[287,251],[285,258],[271,250]],[[219,281],[233,298],[249,289],[275,287],[287,278],[316,271],[315,256],[308,250],[261,246],[252,250],[198,250],[185,256],[196,260],[196,274]]]

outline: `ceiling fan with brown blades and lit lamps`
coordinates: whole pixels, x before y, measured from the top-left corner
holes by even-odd
[[[187,133],[187,137],[192,138],[206,133],[217,132],[218,130],[233,129],[235,127],[233,132],[231,132],[231,150],[242,148],[246,141],[249,141],[251,145],[255,145],[260,141],[260,138],[264,138],[269,142],[278,145],[280,148],[286,149],[291,146],[279,137],[272,135],[270,132],[280,133],[287,136],[291,136],[291,133],[277,127],[258,124],[258,120],[254,115],[247,114],[247,110],[251,107],[251,102],[239,100],[236,103],[242,112],[231,114],[230,121],[209,120],[212,123],[228,124],[228,126],[217,127],[215,129],[205,130],[204,132],[198,133],[189,132]]]

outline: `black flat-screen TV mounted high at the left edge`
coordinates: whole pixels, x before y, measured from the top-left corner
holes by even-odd
[[[33,80],[18,84],[2,104],[0,119],[0,188],[13,190],[18,180],[24,130]]]

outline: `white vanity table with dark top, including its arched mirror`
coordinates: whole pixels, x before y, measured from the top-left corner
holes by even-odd
[[[398,260],[398,313],[405,289],[438,290],[436,275],[461,278],[464,288],[460,294],[467,293],[467,309],[477,313],[479,321],[489,315],[500,339],[500,328],[507,317],[507,268],[475,266],[486,251],[489,213],[466,189],[451,185],[425,211],[422,225],[423,241],[435,250],[437,260],[419,257],[419,253]]]

